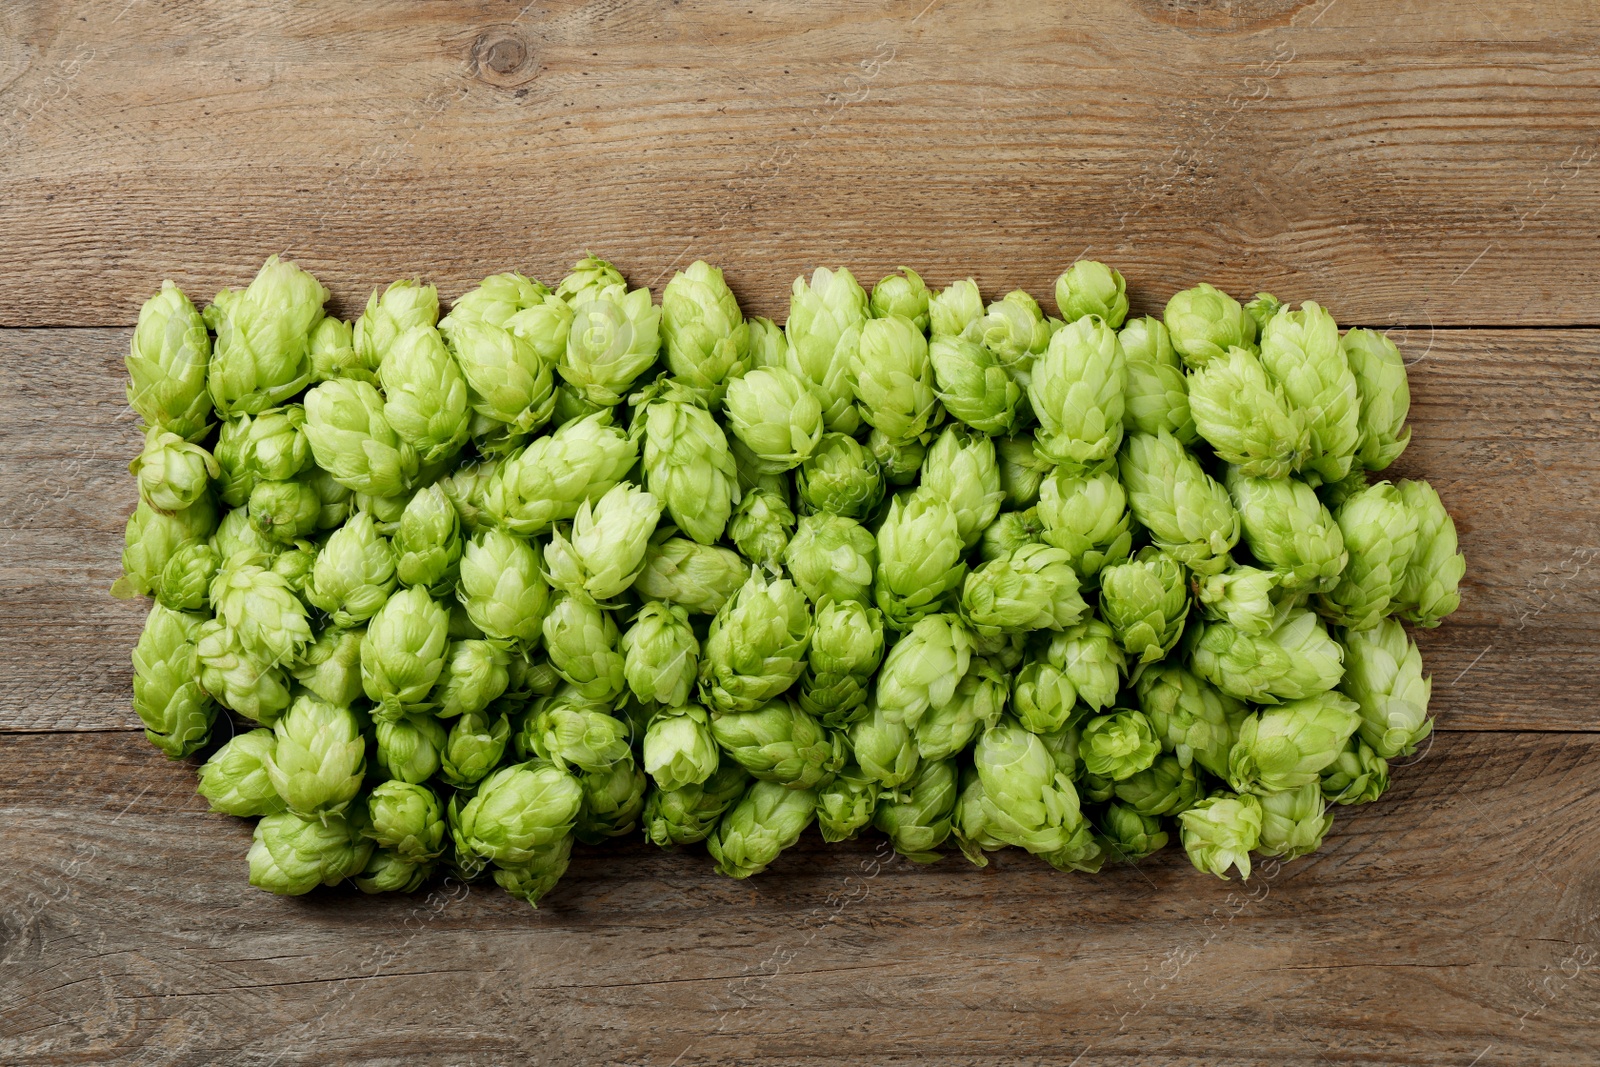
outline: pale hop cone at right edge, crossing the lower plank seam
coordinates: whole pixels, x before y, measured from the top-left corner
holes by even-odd
[[[1411,755],[1434,729],[1427,717],[1434,681],[1422,675],[1421,649],[1394,619],[1344,632],[1339,689],[1360,707],[1362,741],[1386,760]]]

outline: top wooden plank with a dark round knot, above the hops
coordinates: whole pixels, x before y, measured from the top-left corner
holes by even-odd
[[[1350,323],[1595,323],[1586,0],[8,5],[0,325],[126,325],[267,253],[346,312],[392,277],[659,286],[749,307],[848,262],[1136,306],[1200,278]]]

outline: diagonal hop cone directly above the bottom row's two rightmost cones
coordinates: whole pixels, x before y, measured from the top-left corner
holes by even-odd
[[[1355,701],[1339,693],[1320,693],[1246,715],[1227,753],[1229,784],[1240,793],[1315,784],[1344,752],[1360,721]]]

